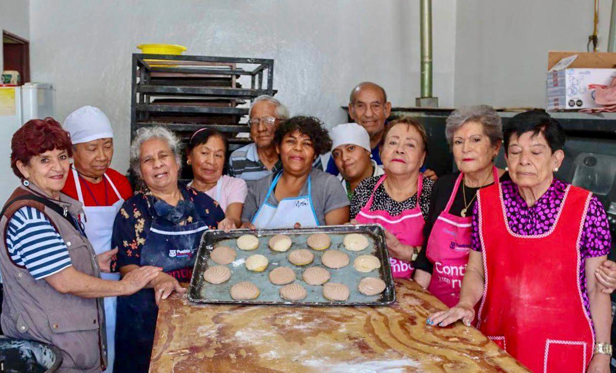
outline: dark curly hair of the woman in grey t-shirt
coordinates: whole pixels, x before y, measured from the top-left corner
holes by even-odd
[[[330,134],[323,127],[323,122],[314,116],[298,115],[286,119],[276,130],[274,143],[282,145],[282,138],[295,131],[310,137],[315,154],[322,155],[331,150]]]

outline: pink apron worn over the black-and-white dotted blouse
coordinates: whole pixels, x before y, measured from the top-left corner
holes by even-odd
[[[423,244],[423,227],[426,222],[419,208],[419,196],[421,196],[421,185],[423,184],[423,176],[419,174],[417,178],[417,205],[414,209],[403,211],[402,214],[392,217],[389,212],[384,210],[370,211],[372,201],[375,196],[375,191],[383,183],[387,174],[381,176],[376,183],[370,199],[359,211],[355,220],[362,224],[380,224],[381,227],[388,230],[392,235],[400,240],[400,243],[409,246],[421,246]],[[403,262],[395,258],[389,258],[391,272],[394,278],[411,278],[413,275],[413,267],[411,263]]]

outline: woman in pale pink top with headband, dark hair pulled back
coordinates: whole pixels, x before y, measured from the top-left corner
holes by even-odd
[[[194,175],[188,187],[204,192],[221,205],[225,219],[218,226],[230,230],[241,225],[248,190],[243,179],[222,174],[226,152],[227,138],[216,129],[202,128],[190,137],[186,157]]]

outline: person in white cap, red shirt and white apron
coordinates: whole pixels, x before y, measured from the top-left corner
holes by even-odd
[[[125,199],[132,196],[131,184],[120,172],[110,169],[113,130],[100,109],[84,106],[64,121],[73,143],[73,166],[62,193],[83,203],[80,216],[87,238],[96,254],[111,250],[113,220]],[[103,279],[118,280],[118,273],[102,273]],[[113,370],[116,297],[105,298],[108,368]]]

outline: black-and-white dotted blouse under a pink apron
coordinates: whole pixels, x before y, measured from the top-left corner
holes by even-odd
[[[355,216],[359,214],[360,209],[368,203],[368,199],[370,199],[372,191],[375,190],[379,178],[381,178],[381,176],[368,177],[357,185],[353,198],[351,199],[351,219],[354,219]],[[419,208],[421,209],[421,214],[423,214],[424,219],[428,216],[433,186],[434,180],[427,177],[423,178],[421,196],[419,196]],[[389,212],[392,216],[397,216],[402,214],[403,211],[415,209],[416,206],[417,193],[405,201],[398,202],[387,194],[384,183],[381,183],[375,191],[375,198],[372,201],[370,211],[382,210]]]

